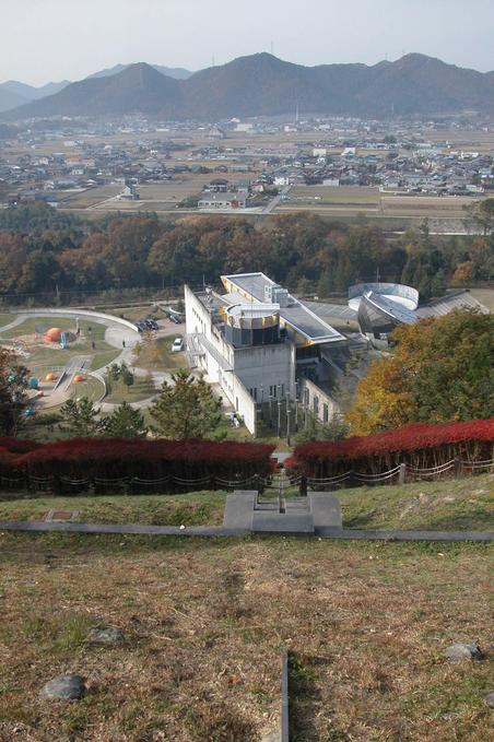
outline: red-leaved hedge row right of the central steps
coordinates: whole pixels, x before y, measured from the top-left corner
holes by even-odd
[[[378,473],[399,463],[417,468],[440,466],[454,458],[494,458],[494,419],[459,423],[414,423],[393,431],[339,443],[308,443],[294,451],[293,469],[324,478],[353,469]]]

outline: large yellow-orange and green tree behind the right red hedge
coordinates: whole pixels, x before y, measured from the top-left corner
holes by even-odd
[[[352,435],[412,422],[494,416],[494,317],[472,310],[395,330],[393,355],[375,361],[346,414]]]

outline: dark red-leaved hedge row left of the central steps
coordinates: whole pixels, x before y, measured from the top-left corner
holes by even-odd
[[[271,471],[273,446],[211,440],[139,440],[72,438],[30,449],[19,441],[19,452],[0,445],[0,455],[17,472],[34,476],[153,480],[173,474],[183,479],[220,476],[242,479]],[[2,463],[0,460],[0,468]],[[5,474],[4,474],[5,475]]]

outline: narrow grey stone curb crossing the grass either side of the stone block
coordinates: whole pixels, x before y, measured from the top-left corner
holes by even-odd
[[[251,533],[239,528],[224,528],[222,526],[142,526],[142,525],[119,525],[119,523],[52,523],[32,520],[0,520],[0,531],[31,531],[31,532],[52,532],[63,531],[69,533],[139,533],[144,535],[205,535],[205,537],[228,537],[244,535]],[[277,535],[285,537],[283,532]],[[290,533],[290,535],[303,535],[307,533]],[[352,529],[326,528],[318,529],[315,537],[320,539],[344,539],[360,541],[443,541],[461,542],[494,541],[494,531],[365,531]]]

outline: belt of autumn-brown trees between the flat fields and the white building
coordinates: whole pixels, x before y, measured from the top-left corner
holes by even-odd
[[[262,270],[292,291],[328,296],[375,279],[415,286],[423,299],[448,283],[494,279],[494,237],[432,237],[426,225],[389,239],[306,212],[254,225],[247,219],[155,214],[98,223],[45,204],[0,212],[0,295],[217,284],[225,272]]]

